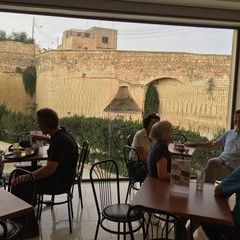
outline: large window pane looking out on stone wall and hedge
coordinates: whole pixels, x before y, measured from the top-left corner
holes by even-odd
[[[232,30],[13,13],[0,23],[1,149],[36,129],[43,107],[89,140],[90,163],[112,158],[122,176],[122,148],[143,114],[157,112],[188,140],[226,129]],[[197,151],[193,167],[216,154]]]

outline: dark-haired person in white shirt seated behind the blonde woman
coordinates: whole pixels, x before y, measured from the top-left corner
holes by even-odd
[[[160,117],[156,114],[150,114],[143,119],[143,129],[139,130],[133,138],[131,147],[137,150],[139,159],[142,161],[147,161],[148,152],[151,147],[151,140],[149,138],[149,133],[152,125],[160,121]]]

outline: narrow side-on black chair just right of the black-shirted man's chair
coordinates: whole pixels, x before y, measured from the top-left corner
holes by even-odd
[[[89,151],[90,151],[89,142],[87,140],[85,140],[83,142],[81,150],[79,151],[80,154],[79,154],[79,158],[78,158],[76,177],[75,177],[75,184],[78,185],[78,195],[79,195],[79,199],[81,201],[81,207],[82,208],[83,208],[83,200],[82,200],[81,184],[82,184],[84,164],[85,164],[86,160],[88,159]]]

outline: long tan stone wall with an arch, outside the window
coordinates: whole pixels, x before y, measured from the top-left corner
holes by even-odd
[[[36,64],[38,108],[53,107],[60,116],[106,117],[120,85],[143,107],[152,83],[164,119],[207,136],[226,127],[230,56],[68,50],[42,53]]]

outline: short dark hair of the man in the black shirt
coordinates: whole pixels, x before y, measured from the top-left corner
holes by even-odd
[[[38,110],[37,117],[44,122],[48,129],[54,129],[58,127],[58,115],[50,108]]]

